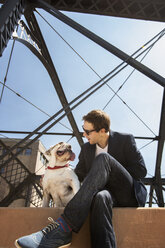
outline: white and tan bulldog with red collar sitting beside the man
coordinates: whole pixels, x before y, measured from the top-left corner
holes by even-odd
[[[46,154],[50,156],[50,160],[42,181],[42,206],[48,207],[52,198],[55,207],[65,207],[80,188],[77,175],[68,166],[69,161],[74,160],[75,154],[65,142],[51,147]]]

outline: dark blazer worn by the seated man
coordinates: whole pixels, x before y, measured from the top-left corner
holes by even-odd
[[[96,145],[85,143],[79,155],[75,172],[82,182],[89,172],[95,158]],[[141,153],[136,147],[133,135],[110,131],[108,153],[113,156],[133,177],[135,196],[139,206],[144,206],[147,191],[140,179],[147,170]]]

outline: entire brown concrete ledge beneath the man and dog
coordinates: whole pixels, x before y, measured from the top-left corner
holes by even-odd
[[[49,216],[57,218],[63,209],[0,208],[0,248],[14,248],[14,240],[42,229]],[[118,248],[164,248],[165,208],[114,208],[113,223]],[[88,220],[70,248],[90,248]],[[101,247],[100,247],[101,248]]]

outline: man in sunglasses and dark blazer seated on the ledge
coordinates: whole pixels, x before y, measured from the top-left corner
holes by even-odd
[[[144,206],[146,188],[140,181],[146,175],[142,155],[134,138],[110,130],[109,116],[93,110],[83,117],[82,146],[75,169],[82,186],[64,213],[43,230],[16,241],[16,247],[57,248],[71,242],[90,212],[92,248],[115,248],[112,207]]]

